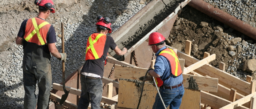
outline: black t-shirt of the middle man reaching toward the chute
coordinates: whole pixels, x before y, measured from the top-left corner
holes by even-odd
[[[111,36],[107,36],[103,55],[107,56],[109,48],[111,50],[114,50],[116,46],[117,45],[114,42],[113,38]],[[104,65],[105,65],[105,59],[103,58],[103,56],[96,60],[86,60],[81,72],[94,73],[103,77]]]

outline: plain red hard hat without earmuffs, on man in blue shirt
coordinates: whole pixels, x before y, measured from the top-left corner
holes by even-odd
[[[165,40],[165,37],[161,33],[153,32],[148,37],[148,45],[160,43]]]

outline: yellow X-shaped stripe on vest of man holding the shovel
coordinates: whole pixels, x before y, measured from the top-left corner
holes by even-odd
[[[45,21],[45,22],[43,22],[43,23],[41,23],[40,25],[37,26],[37,21],[35,21],[35,18],[32,18],[31,20],[32,20],[32,23],[33,23],[35,29],[29,34],[29,36],[26,37],[25,40],[29,41],[35,35],[35,33],[37,33],[38,40],[40,41],[41,45],[44,45],[45,42],[44,42],[42,36],[39,33],[39,29],[44,27],[45,25],[47,25],[49,23]]]

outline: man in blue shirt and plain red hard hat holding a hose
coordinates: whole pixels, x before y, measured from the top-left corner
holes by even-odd
[[[160,87],[159,92],[165,106],[170,105],[170,109],[179,109],[185,90],[178,56],[172,49],[165,47],[165,37],[161,33],[151,33],[148,45],[157,56],[155,69],[148,70],[148,73],[155,78],[157,86]],[[152,80],[151,76],[147,76],[143,81]],[[153,109],[165,109],[158,94]]]

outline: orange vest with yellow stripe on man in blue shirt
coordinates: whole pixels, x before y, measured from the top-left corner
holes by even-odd
[[[177,76],[181,75],[182,70],[180,67],[180,62],[179,62],[178,56],[172,49],[166,48],[166,49],[162,50],[158,54],[158,56],[159,55],[164,56],[169,60],[170,65],[171,65],[172,74],[174,76],[177,77]],[[172,74],[170,74],[169,77],[165,78],[164,80],[167,80],[168,78],[170,78]],[[159,87],[163,85],[164,80],[162,80],[161,78],[155,77],[155,82],[157,83],[157,86],[159,86]]]

